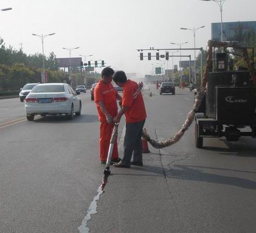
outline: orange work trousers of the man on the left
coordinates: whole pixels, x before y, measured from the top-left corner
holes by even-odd
[[[107,161],[108,159],[108,149],[110,144],[110,139],[112,135],[114,125],[109,124],[107,121],[100,122],[100,159],[101,161]],[[112,153],[112,159],[118,158],[117,150],[117,138],[115,139],[115,144]]]

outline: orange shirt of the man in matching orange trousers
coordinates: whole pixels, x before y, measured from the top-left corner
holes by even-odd
[[[95,89],[94,89],[94,101],[97,106],[99,120],[100,121],[106,121],[106,116],[101,110],[99,101],[102,101],[105,105],[108,113],[115,117],[117,115],[117,104],[116,104],[116,97],[118,93],[113,87],[113,85],[110,84],[104,84],[103,81],[100,81]]]

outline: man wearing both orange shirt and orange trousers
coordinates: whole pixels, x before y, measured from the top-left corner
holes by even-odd
[[[104,68],[101,71],[101,80],[94,89],[94,101],[100,120],[100,160],[103,164],[107,162],[108,148],[114,127],[113,118],[117,115],[118,111],[116,100],[122,99],[111,84],[114,72],[110,67]],[[119,161],[121,159],[118,157],[117,141],[115,141],[112,163]]]

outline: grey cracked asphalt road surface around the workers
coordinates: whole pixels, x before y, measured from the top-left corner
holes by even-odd
[[[150,91],[143,91],[145,128],[168,139],[184,123],[194,93],[160,96],[153,85]],[[19,99],[0,100],[0,233],[256,231],[256,139],[204,139],[196,149],[194,125],[171,147],[149,146],[143,167],[111,167],[97,214],[87,221],[104,165],[95,105],[89,93],[80,97],[82,115],[72,121],[38,116],[28,122]],[[121,157],[123,130],[122,120]]]

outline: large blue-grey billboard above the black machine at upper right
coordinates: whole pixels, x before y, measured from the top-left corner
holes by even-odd
[[[253,46],[250,38],[256,36],[256,21],[222,23],[223,41],[237,41],[240,44]],[[212,40],[221,41],[221,23],[211,24]]]

